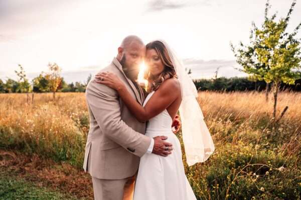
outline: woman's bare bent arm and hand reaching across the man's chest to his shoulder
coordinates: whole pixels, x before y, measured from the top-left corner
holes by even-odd
[[[98,77],[97,77],[98,76]],[[130,112],[139,121],[146,121],[169,107],[179,96],[180,86],[175,79],[165,80],[159,89],[142,107],[129,93],[122,81],[113,73],[102,72],[95,76],[97,82],[105,84],[118,91],[119,96]],[[101,80],[103,77],[104,80]]]

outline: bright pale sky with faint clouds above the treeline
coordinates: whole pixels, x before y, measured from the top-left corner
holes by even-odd
[[[31,79],[49,62],[67,82],[84,82],[107,66],[127,35],[164,39],[191,68],[192,78],[245,76],[230,42],[247,43],[252,21],[263,22],[265,0],[0,0],[0,79]],[[285,16],[292,0],[270,0]],[[288,31],[301,21],[296,0]],[[300,37],[301,35],[298,34]]]

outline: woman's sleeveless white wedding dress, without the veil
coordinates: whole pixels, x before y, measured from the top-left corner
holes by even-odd
[[[155,91],[150,92],[143,106]],[[134,189],[134,200],[196,200],[185,175],[180,141],[172,131],[173,119],[167,109],[149,119],[145,135],[168,136],[173,144],[167,157],[145,153],[141,159]]]

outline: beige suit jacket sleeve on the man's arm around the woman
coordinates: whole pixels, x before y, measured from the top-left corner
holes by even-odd
[[[91,81],[86,89],[87,102],[102,132],[129,152],[142,156],[152,138],[134,131],[122,119],[118,93]]]

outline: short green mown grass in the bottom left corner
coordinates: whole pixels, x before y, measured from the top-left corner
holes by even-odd
[[[2,200],[57,200],[57,199],[76,199],[66,196],[58,191],[51,191],[48,188],[40,187],[32,182],[10,177],[0,176],[0,199]]]

